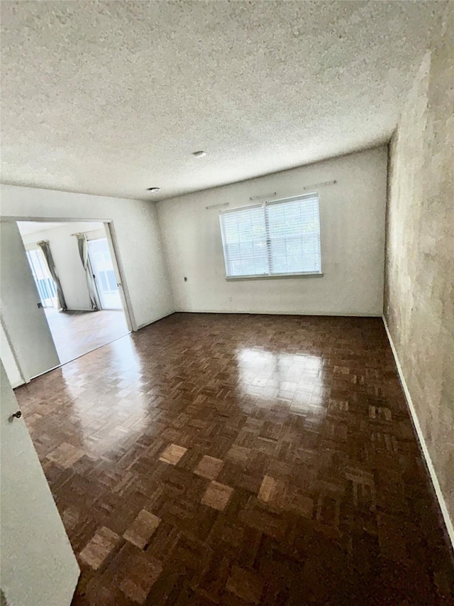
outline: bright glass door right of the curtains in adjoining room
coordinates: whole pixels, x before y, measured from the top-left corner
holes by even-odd
[[[89,240],[88,253],[92,261],[94,281],[102,309],[121,309],[120,293],[116,283],[109,244],[106,238]]]

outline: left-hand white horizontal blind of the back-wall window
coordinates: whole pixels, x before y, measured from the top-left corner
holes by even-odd
[[[265,215],[262,205],[220,215],[227,276],[268,274]]]

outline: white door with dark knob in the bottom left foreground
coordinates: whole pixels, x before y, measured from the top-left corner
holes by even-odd
[[[1,590],[11,606],[69,606],[79,566],[3,364],[0,378]]]

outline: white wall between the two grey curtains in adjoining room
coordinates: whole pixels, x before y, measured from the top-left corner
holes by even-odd
[[[39,226],[40,224],[37,223],[37,229],[39,229]],[[22,234],[22,240],[27,250],[36,248],[35,243],[40,242],[40,240],[49,240],[50,251],[62,283],[67,308],[70,310],[89,310],[90,298],[85,271],[79,256],[77,239],[71,235],[78,232],[86,233],[88,239],[106,237],[102,223],[70,223],[31,234]]]

